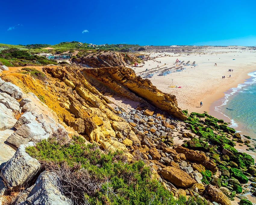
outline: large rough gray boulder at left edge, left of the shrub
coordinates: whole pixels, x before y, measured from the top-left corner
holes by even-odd
[[[20,145],[14,156],[2,167],[0,176],[11,190],[16,190],[29,182],[41,168],[39,161],[26,153],[25,149],[29,145],[33,143]]]

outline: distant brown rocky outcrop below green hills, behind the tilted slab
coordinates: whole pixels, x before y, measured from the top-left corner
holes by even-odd
[[[87,53],[82,57],[73,58],[72,62],[83,67],[100,68],[126,66],[137,62],[138,58],[130,54],[122,54],[110,51]],[[142,61],[143,62],[143,61]]]

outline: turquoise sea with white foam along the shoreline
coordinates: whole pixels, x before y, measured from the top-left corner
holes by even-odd
[[[245,83],[225,93],[222,104],[215,107],[215,111],[230,119],[230,127],[256,139],[256,71],[248,75],[251,78]]]

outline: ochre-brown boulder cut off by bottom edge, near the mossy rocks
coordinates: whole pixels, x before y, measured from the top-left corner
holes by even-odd
[[[216,186],[208,185],[208,194],[211,196],[211,199],[221,205],[231,205],[230,200],[228,197],[223,194],[223,192],[218,189]]]

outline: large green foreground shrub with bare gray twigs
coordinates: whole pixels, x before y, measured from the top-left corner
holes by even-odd
[[[64,194],[75,204],[208,204],[198,196],[175,200],[171,192],[152,179],[150,168],[139,155],[128,163],[122,152],[103,152],[96,144],[85,144],[79,136],[71,141],[63,136],[60,133],[26,151],[45,170],[58,174]]]

